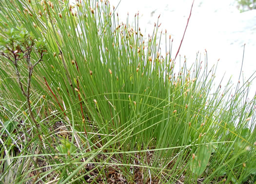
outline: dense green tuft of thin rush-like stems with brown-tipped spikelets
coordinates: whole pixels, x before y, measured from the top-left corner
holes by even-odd
[[[192,66],[177,58],[177,67],[166,33],[166,49],[159,47],[158,19],[143,35],[138,16],[134,25],[122,22],[105,0],[0,6],[1,43],[14,30],[46,48],[28,86],[26,58],[19,80],[1,45],[0,181],[256,180],[256,97],[247,98],[255,75],[235,91],[231,84],[213,90],[217,67],[207,68],[207,52]],[[39,58],[31,52],[31,61]],[[19,83],[30,88],[29,102]]]

